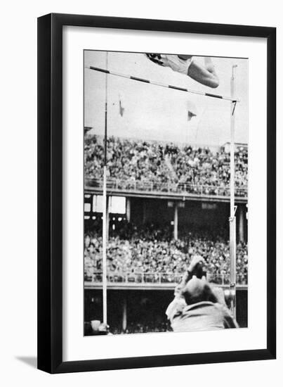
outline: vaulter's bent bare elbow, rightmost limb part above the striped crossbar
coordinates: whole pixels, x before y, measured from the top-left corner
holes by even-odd
[[[209,57],[204,58],[204,65],[193,58],[187,75],[205,86],[213,87],[213,89],[219,86],[218,76]]]

